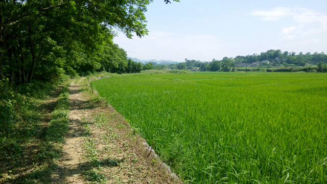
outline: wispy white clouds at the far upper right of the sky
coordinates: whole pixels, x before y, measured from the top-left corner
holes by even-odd
[[[327,35],[327,14],[317,12],[308,8],[277,7],[271,10],[256,10],[253,16],[259,16],[263,20],[281,21],[281,24],[293,24],[294,26],[285,27],[281,30],[281,39],[278,43],[300,47],[301,45],[315,45],[322,43]]]

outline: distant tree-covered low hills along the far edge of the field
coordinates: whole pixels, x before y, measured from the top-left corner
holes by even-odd
[[[314,54],[300,52],[282,52],[281,50],[268,50],[262,52],[260,55],[253,54],[247,56],[236,56],[235,58],[224,57],[222,60],[213,59],[211,62],[201,62],[199,60],[185,59],[185,62],[170,65],[155,65],[155,68],[170,68],[179,70],[193,70],[193,71],[212,71],[212,72],[231,72],[236,68],[242,67],[304,67],[311,65],[309,68],[315,68],[317,72],[327,71],[327,55],[324,53]],[[316,67],[312,66],[316,65]],[[305,67],[308,68],[308,67]],[[311,70],[308,69],[308,70]],[[282,69],[281,69],[282,70]],[[286,69],[283,69],[287,71]],[[295,71],[295,69],[292,69]],[[306,69],[303,69],[306,70]],[[268,70],[269,71],[269,70]],[[290,72],[292,72],[290,70]]]

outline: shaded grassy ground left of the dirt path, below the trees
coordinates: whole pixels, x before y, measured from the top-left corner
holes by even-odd
[[[24,96],[18,121],[0,137],[0,183],[49,183],[57,168],[69,122],[68,85],[39,90],[40,96]]]

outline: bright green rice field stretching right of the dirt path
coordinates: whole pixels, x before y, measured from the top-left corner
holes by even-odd
[[[91,85],[185,182],[327,182],[327,74],[135,74]]]

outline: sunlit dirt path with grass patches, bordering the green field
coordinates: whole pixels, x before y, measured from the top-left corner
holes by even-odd
[[[83,79],[69,86],[69,130],[52,183],[181,183],[149,154],[144,139]]]

